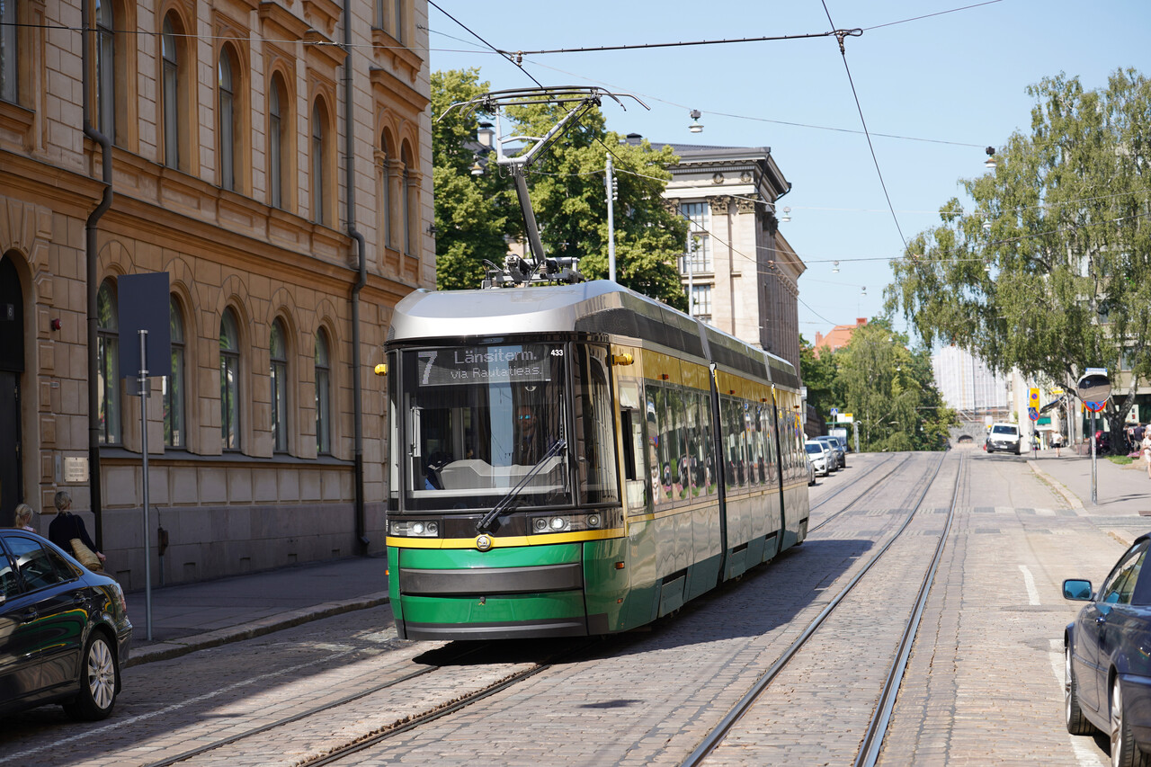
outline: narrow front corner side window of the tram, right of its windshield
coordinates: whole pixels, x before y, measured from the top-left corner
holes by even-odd
[[[576,351],[576,387],[579,392],[576,461],[582,499],[586,503],[618,501],[608,350],[597,345],[577,344]]]

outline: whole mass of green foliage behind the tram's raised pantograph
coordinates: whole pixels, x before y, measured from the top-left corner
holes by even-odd
[[[433,115],[455,101],[488,90],[478,71],[437,71],[432,78]],[[566,114],[563,106],[510,107],[503,132],[543,136]],[[523,217],[505,168],[488,158],[483,176],[472,176],[477,115],[453,109],[433,132],[436,190],[436,273],[441,289],[474,288],[483,259],[503,261],[506,240],[523,240]],[[528,189],[540,237],[549,257],[579,258],[587,279],[608,276],[608,203],[604,165],[616,166],[617,281],[680,310],[687,309],[676,259],[684,253],[687,222],[665,206],[662,192],[678,158],[670,147],[654,150],[620,143],[605,128],[599,108],[569,126],[528,169]],[[470,149],[472,147],[472,149]],[[505,240],[506,238],[506,240]]]

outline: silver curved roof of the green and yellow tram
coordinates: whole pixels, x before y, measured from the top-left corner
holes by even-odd
[[[388,341],[585,331],[643,339],[704,357],[700,328],[712,360],[756,375],[764,375],[767,367],[771,381],[799,387],[787,360],[608,280],[483,290],[421,288],[396,304]]]

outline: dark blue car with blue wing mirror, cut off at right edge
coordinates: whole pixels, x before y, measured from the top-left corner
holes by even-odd
[[[1115,767],[1151,765],[1151,534],[1139,536],[1104,579],[1065,580],[1088,602],[1064,635],[1064,716],[1072,735],[1111,735]]]

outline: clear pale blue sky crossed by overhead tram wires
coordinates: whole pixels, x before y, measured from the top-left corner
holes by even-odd
[[[792,208],[782,230],[808,267],[799,283],[808,341],[882,311],[889,259],[902,252],[900,229],[910,240],[936,226],[939,206],[962,199],[959,181],[985,173],[984,147],[1030,130],[1028,85],[1061,71],[1087,89],[1105,86],[1118,68],[1151,74],[1148,0],[826,0],[834,26],[820,0],[436,2],[509,51],[862,29],[845,43],[859,108],[834,37],[524,58],[544,85],[602,85],[651,107],[605,106],[611,130],[770,146],[793,184],[779,202]],[[929,14],[939,15],[905,21]],[[534,85],[435,7],[428,28],[433,69],[479,67],[493,89]],[[702,134],[687,130],[691,109],[703,113]],[[906,328],[901,318],[895,325]]]

